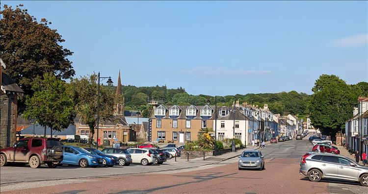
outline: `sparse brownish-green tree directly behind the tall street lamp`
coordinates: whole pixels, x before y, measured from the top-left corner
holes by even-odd
[[[71,79],[73,88],[75,108],[83,123],[90,130],[90,142],[93,141],[95,127],[97,127],[97,100],[98,84],[97,75],[94,73]],[[100,86],[100,121],[113,121],[114,93],[107,86]]]

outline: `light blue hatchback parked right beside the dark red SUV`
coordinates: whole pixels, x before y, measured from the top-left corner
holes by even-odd
[[[98,167],[103,164],[103,158],[101,156],[91,154],[89,151],[75,146],[62,146],[63,147],[63,161],[61,165],[79,165],[81,168]]]

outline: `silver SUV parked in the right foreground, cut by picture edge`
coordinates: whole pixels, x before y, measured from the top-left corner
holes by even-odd
[[[368,168],[345,156],[308,152],[301,158],[299,173],[313,182],[328,178],[357,181],[368,187]]]

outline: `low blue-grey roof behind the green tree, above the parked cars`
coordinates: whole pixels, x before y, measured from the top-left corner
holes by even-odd
[[[35,135],[44,135],[45,133],[45,127],[39,125],[36,123],[34,125],[34,134]],[[27,128],[23,129],[21,131],[22,135],[33,135],[33,125],[28,126]],[[46,134],[50,135],[50,128],[46,127]],[[53,130],[53,135],[75,135],[76,134],[76,126],[75,125],[69,125],[68,128],[56,131]]]

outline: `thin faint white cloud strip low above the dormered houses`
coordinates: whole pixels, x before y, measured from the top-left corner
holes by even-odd
[[[245,74],[269,74],[271,71],[263,71],[263,70],[239,70],[239,69],[226,69],[226,68],[214,68],[214,67],[205,67],[198,66],[192,69],[182,69],[179,70],[179,73],[183,74],[192,74],[192,75],[245,75]]]

